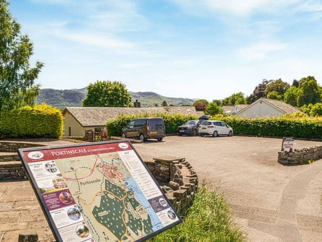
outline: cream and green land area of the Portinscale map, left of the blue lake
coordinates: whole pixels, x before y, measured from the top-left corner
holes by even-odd
[[[147,210],[125,186],[131,174],[116,152],[56,164],[96,242],[131,242],[153,232]]]

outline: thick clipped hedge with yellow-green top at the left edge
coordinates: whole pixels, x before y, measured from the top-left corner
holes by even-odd
[[[63,117],[46,104],[25,106],[1,113],[0,135],[4,138],[60,138]]]

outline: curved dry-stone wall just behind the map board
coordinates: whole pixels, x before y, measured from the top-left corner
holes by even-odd
[[[185,158],[159,157],[144,162],[175,209],[185,215],[198,188],[198,176]]]

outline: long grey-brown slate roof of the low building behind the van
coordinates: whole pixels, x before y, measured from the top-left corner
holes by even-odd
[[[105,126],[109,119],[116,118],[120,113],[162,113],[167,112],[162,107],[66,107],[63,115],[69,112],[82,126]]]

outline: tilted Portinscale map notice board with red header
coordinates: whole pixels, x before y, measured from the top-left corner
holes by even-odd
[[[57,241],[143,241],[180,216],[127,140],[19,149]]]

